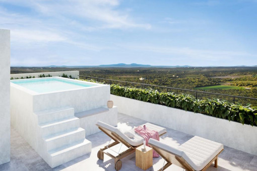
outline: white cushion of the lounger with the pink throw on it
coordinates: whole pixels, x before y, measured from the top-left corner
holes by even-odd
[[[131,144],[132,146],[138,146],[138,145],[141,145],[143,144],[143,141],[144,141],[144,138],[142,136],[140,136],[139,134],[135,133],[135,137],[133,138],[129,138],[127,137],[125,134],[123,134],[117,127],[114,127],[114,126],[111,126],[109,124],[106,124],[104,122],[101,122],[101,121],[97,121],[97,124],[96,125],[99,125],[101,127],[104,127],[112,132],[115,132],[116,134],[118,134],[121,138],[123,138],[126,142],[128,142],[129,144]],[[153,124],[150,124],[150,123],[146,123],[144,124],[146,125],[146,127],[151,128],[150,129],[153,129],[155,131],[158,131],[159,135],[160,134],[163,134],[163,131],[166,132],[166,129],[165,128],[162,128],[162,127],[159,127],[159,126],[156,126],[156,125],[153,125]],[[144,126],[143,125],[143,126]],[[156,127],[154,127],[156,126]],[[160,131],[160,132],[159,132]]]

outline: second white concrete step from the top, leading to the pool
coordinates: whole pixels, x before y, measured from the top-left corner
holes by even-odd
[[[63,120],[47,123],[46,125],[42,125],[41,133],[42,137],[47,137],[52,134],[57,134],[60,132],[65,132],[71,129],[80,127],[80,120],[77,117],[66,118]]]

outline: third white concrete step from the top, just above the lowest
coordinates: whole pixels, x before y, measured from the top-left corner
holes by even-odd
[[[76,128],[69,130],[68,132],[62,132],[54,134],[52,136],[45,137],[47,151],[60,148],[67,144],[73,144],[75,142],[85,139],[85,129]]]

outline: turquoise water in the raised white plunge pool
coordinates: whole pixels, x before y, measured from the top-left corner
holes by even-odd
[[[80,81],[75,81],[73,79],[62,79],[56,77],[16,79],[11,80],[11,82],[21,85],[22,87],[27,88],[36,93],[65,91],[94,86],[88,85],[86,84],[86,82],[84,83]]]

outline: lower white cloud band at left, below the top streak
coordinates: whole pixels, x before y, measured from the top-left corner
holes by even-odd
[[[76,29],[63,27],[65,24],[54,21],[9,12],[0,6],[0,27],[11,30],[11,42],[16,48],[40,48],[51,42],[67,43],[92,51],[108,48],[81,41],[80,38],[83,35],[77,33]],[[77,24],[75,23],[75,25]]]

